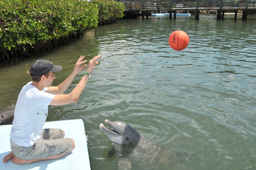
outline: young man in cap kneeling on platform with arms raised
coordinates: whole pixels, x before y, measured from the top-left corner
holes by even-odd
[[[4,157],[4,163],[12,159],[16,164],[30,164],[37,161],[57,159],[67,155],[75,148],[73,139],[64,138],[61,129],[42,129],[48,114],[49,105],[76,103],[90,78],[100,55],[89,61],[84,76],[69,93],[63,94],[70,86],[76,74],[84,69],[84,56],[77,60],[73,72],[59,86],[51,86],[54,73],[61,66],[55,66],[48,60],[37,60],[30,68],[32,81],[25,85],[19,94],[15,106],[14,119],[10,134],[12,151]],[[82,66],[81,66],[82,65]]]

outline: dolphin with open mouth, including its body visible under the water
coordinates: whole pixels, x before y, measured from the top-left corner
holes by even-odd
[[[100,129],[108,136],[110,141],[119,147],[118,169],[189,169],[185,165],[192,157],[198,155],[194,152],[181,150],[166,151],[141,136],[134,128],[122,121],[105,123],[112,129],[100,124]],[[113,147],[108,152],[108,157],[112,157],[116,152]]]

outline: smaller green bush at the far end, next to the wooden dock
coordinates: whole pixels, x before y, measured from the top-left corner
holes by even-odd
[[[115,22],[116,19],[124,17],[125,6],[122,3],[109,0],[92,0],[92,3],[98,5],[100,25]]]

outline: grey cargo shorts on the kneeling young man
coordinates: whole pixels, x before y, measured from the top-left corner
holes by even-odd
[[[64,134],[61,129],[43,129],[41,138],[34,145],[24,147],[11,140],[11,149],[17,158],[25,160],[66,154],[73,147],[73,141],[62,138]]]

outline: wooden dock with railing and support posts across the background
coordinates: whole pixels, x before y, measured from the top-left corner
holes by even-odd
[[[116,0],[125,6],[127,16],[151,15],[152,12],[166,11],[173,13],[176,19],[178,11],[194,11],[199,19],[200,11],[217,11],[217,19],[223,19],[225,11],[233,11],[235,19],[238,11],[243,12],[242,19],[247,19],[248,11],[256,10],[256,0]],[[172,19],[172,15],[170,15]]]

